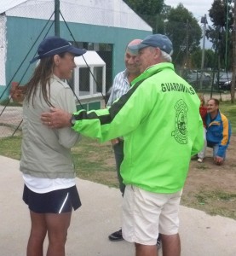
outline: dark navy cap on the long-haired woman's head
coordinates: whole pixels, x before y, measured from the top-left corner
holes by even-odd
[[[43,59],[52,55],[58,55],[63,52],[69,52],[75,56],[81,56],[85,54],[86,49],[79,49],[72,46],[66,39],[59,37],[45,38],[37,48],[38,56],[34,57],[30,63]]]

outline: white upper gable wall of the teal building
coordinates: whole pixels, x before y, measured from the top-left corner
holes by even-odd
[[[54,0],[28,0],[5,13],[7,16],[48,20],[54,10]],[[152,31],[122,0],[60,0],[60,11],[67,22]]]

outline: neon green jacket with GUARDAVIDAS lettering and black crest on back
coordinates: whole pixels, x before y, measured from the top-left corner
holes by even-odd
[[[154,193],[182,189],[191,155],[204,143],[199,96],[171,63],[148,68],[111,108],[74,113],[75,131],[101,142],[124,137],[121,175]]]

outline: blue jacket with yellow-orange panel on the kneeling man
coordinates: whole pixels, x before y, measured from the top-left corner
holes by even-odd
[[[215,119],[210,118],[210,113],[206,116],[206,140],[211,144],[219,144],[218,156],[223,157],[230,142],[231,125],[227,117],[220,111]]]

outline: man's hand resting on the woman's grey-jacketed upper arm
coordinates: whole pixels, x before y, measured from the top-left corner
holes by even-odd
[[[60,108],[51,108],[51,112],[41,114],[43,125],[47,125],[50,128],[71,127],[71,118],[71,113],[67,113]]]

